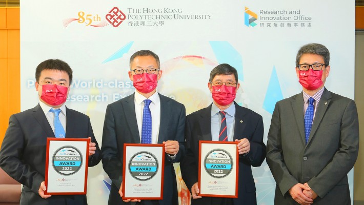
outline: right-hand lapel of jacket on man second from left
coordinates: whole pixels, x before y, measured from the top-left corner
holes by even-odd
[[[169,118],[172,113],[172,108],[170,105],[170,98],[159,94],[160,99],[160,122],[159,122],[159,134],[158,134],[158,144],[162,144],[163,141],[167,141],[167,128]]]

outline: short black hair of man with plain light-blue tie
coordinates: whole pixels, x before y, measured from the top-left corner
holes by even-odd
[[[35,69],[35,80],[38,83],[39,83],[39,77],[41,77],[41,72],[47,69],[65,71],[68,74],[68,77],[70,78],[70,86],[71,86],[72,69],[65,61],[60,59],[48,59],[40,63]]]

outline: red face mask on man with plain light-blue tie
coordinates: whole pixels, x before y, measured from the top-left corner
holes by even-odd
[[[43,85],[41,99],[51,106],[59,106],[67,99],[68,88],[58,85]]]

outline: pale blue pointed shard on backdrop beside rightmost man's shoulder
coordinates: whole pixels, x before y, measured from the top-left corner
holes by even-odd
[[[269,80],[266,98],[264,99],[263,108],[273,114],[274,106],[277,101],[283,99],[282,90],[279,85],[277,71],[273,66],[271,79]]]

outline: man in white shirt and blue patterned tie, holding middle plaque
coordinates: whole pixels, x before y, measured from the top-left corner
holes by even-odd
[[[137,51],[130,57],[129,77],[136,92],[120,99],[106,109],[102,161],[109,175],[111,191],[109,204],[178,204],[177,182],[173,168],[185,152],[185,106],[156,91],[162,75],[159,57],[149,50]],[[151,130],[145,131],[145,117],[151,114]],[[149,141],[145,137],[149,137]],[[164,144],[166,160],[164,168],[163,200],[122,200],[124,144]]]

